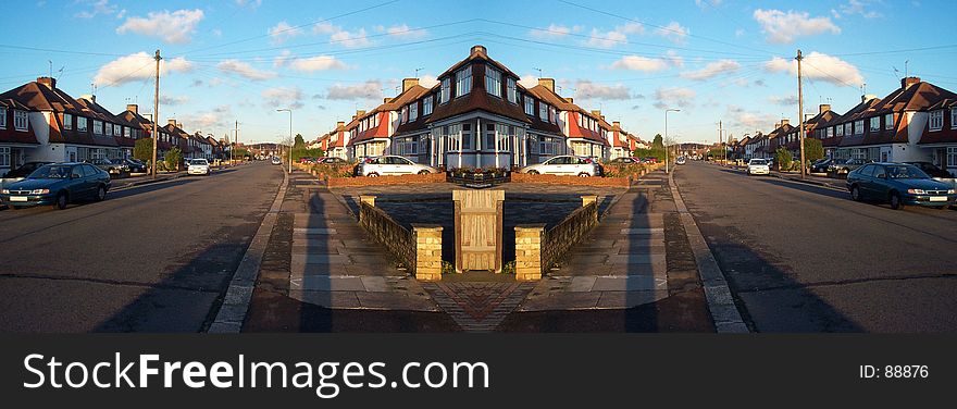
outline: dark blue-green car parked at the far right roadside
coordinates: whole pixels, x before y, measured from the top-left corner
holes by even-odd
[[[957,202],[954,187],[906,163],[866,164],[847,174],[847,188],[854,200],[886,201],[895,210],[905,205],[946,209]]]

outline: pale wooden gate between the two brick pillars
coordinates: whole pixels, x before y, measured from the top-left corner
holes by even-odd
[[[456,272],[501,272],[505,190],[452,190],[456,207]]]

